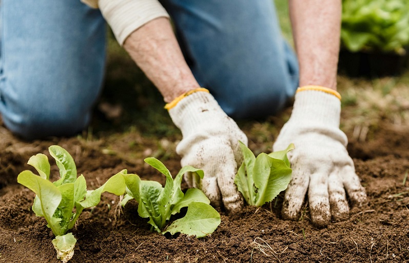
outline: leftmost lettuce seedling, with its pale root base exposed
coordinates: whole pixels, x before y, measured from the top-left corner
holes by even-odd
[[[63,262],[70,260],[76,243],[72,233],[67,233],[74,225],[84,208],[100,203],[102,192],[116,195],[124,194],[126,170],[112,176],[100,188],[87,191],[83,175],[77,177],[76,167],[71,155],[60,146],[50,146],[49,152],[60,169],[60,179],[51,183],[50,164],[46,155],[38,153],[31,156],[28,164],[37,170],[40,176],[29,170],[17,176],[17,182],[32,190],[36,196],[32,209],[36,216],[47,220],[47,227],[55,235],[52,240],[57,258]]]

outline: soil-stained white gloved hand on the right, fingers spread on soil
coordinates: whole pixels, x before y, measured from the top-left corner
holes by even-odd
[[[284,196],[286,219],[298,219],[307,189],[311,220],[318,227],[331,218],[348,217],[345,190],[353,203],[366,199],[345,148],[346,135],[339,129],[340,98],[338,92],[319,86],[297,90],[291,117],[273,145],[274,151],[295,145],[288,153],[293,176]]]

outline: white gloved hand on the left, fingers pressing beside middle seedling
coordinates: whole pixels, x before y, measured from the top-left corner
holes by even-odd
[[[206,89],[200,90],[167,107],[173,123],[182,131],[176,152],[182,156],[182,166],[204,171],[201,181],[195,174],[185,174],[189,187],[202,189],[213,206],[223,203],[229,212],[237,211],[243,206],[243,197],[234,177],[243,160],[239,140],[247,145],[247,137],[215,98]]]

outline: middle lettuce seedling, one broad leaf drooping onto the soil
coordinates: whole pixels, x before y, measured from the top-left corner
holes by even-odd
[[[184,194],[181,190],[182,176],[186,172],[196,172],[203,178],[203,171],[191,166],[183,167],[173,179],[169,170],[158,159],[149,157],[145,162],[166,176],[165,187],[157,181],[141,180],[138,175],[123,175],[126,192],[122,206],[134,198],[138,201],[138,214],[149,218],[151,230],[170,234],[184,233],[203,237],[211,234],[220,225],[220,215],[209,204],[206,195],[199,189],[191,188]],[[172,222],[168,227],[171,215],[187,207],[186,215]]]

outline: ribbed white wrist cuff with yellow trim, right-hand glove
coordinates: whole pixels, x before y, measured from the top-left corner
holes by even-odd
[[[341,96],[338,92],[336,92],[338,96],[334,92],[336,91],[319,86],[299,88],[295,96],[291,120],[308,126],[323,125],[339,128]]]

